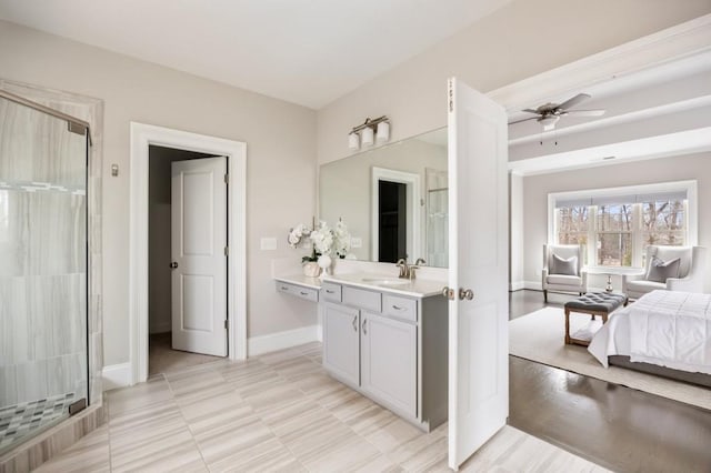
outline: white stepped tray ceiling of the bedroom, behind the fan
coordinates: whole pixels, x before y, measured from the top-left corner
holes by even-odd
[[[542,98],[520,108],[592,95],[573,109],[602,117],[562,117],[552,131],[535,120],[509,125],[509,169],[521,175],[617,164],[711,150],[711,50],[625,77]],[[509,121],[532,117],[509,110]]]

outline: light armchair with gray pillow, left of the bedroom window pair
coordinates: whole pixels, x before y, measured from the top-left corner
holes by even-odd
[[[588,292],[588,272],[583,268],[585,246],[582,244],[544,244],[543,300],[548,302],[548,291]]]

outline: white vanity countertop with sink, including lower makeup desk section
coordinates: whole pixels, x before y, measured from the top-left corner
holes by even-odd
[[[319,278],[309,278],[303,274],[274,276],[274,280],[303,288],[321,289],[321,280]],[[407,280],[378,273],[330,274],[324,278],[324,281],[413,298],[429,298],[441,294],[442,288],[447,285],[447,282],[443,281]]]

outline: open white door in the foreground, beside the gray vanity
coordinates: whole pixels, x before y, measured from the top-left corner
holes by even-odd
[[[507,115],[449,81],[449,466],[509,415]],[[468,299],[471,290],[473,296]]]

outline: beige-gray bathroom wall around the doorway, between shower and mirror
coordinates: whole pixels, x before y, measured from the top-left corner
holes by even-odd
[[[3,21],[0,78],[104,101],[106,365],[129,361],[131,121],[247,142],[248,335],[317,322],[316,310],[274,296],[270,272],[272,258],[296,258],[289,228],[314,214],[314,111]],[[278,250],[260,251],[260,236],[276,236]]]

